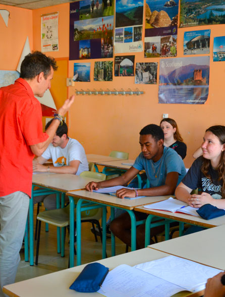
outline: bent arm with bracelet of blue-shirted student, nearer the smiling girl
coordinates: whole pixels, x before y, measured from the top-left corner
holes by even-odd
[[[178,182],[178,172],[170,172],[166,175],[165,184],[147,189],[138,189],[138,196],[163,196],[173,195]],[[117,196],[135,197],[135,191],[130,189],[120,189],[117,191]]]

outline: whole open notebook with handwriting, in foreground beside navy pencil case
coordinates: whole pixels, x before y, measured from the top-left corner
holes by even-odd
[[[176,256],[111,270],[98,293],[106,297],[170,297],[181,291],[197,292],[221,270]]]

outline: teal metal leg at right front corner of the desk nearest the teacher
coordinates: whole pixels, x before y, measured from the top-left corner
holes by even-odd
[[[74,199],[71,196],[68,196],[68,197],[70,200],[70,268],[71,268],[71,267],[74,267]],[[77,231],[77,238],[79,236],[81,237],[80,231],[79,232]]]

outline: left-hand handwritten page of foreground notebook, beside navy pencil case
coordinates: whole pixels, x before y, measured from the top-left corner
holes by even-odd
[[[106,297],[170,297],[183,290],[173,283],[123,264],[107,274],[98,293]]]

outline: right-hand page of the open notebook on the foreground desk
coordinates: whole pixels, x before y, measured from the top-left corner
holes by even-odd
[[[135,267],[191,292],[204,289],[207,279],[221,271],[176,256],[138,264]]]

